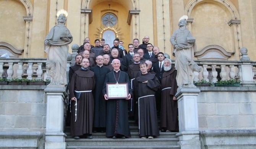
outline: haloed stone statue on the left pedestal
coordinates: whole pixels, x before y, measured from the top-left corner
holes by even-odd
[[[47,53],[47,61],[52,60],[55,62],[55,68],[59,69],[55,75],[55,80],[52,80],[50,84],[62,84],[66,85],[66,63],[67,63],[67,55],[68,55],[68,44],[70,44],[73,40],[73,37],[66,28],[66,17],[68,13],[65,10],[60,10],[57,13],[57,21],[58,24],[53,27],[48,35],[45,37],[44,48]],[[49,62],[52,63],[52,62]]]

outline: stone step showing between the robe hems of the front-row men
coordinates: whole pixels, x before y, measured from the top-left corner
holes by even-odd
[[[66,138],[73,139],[73,136],[71,136],[70,132],[65,133],[67,135]],[[177,132],[160,132],[160,136],[157,136],[156,138],[177,138],[176,137]],[[92,137],[94,139],[107,139],[106,133],[92,133]],[[131,132],[131,138],[139,138],[139,132]]]

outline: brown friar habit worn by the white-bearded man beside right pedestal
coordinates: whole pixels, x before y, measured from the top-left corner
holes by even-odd
[[[171,70],[165,71],[162,78],[162,104],[161,104],[161,127],[166,130],[178,131],[178,104],[173,100],[177,92],[177,70],[172,66]],[[171,87],[166,89],[167,87]]]

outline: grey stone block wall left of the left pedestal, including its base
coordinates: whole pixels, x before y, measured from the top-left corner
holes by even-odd
[[[45,87],[0,85],[0,148],[44,148]]]

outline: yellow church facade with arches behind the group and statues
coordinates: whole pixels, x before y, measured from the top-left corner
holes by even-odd
[[[172,55],[170,36],[179,18],[188,15],[187,27],[196,38],[194,59],[240,60],[245,47],[256,60],[255,7],[254,0],[0,0],[0,55],[46,57],[44,38],[64,9],[73,35],[70,53],[71,45],[80,46],[86,37],[92,45],[95,39],[112,44],[119,38],[128,49],[134,38],[141,44],[148,35],[149,43]]]

